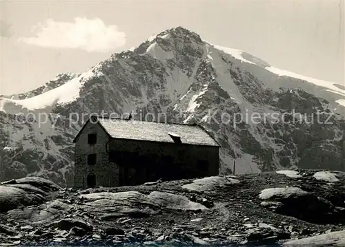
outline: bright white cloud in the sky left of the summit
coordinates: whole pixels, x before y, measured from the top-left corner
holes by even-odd
[[[32,29],[35,36],[19,41],[51,48],[81,49],[87,52],[111,52],[126,44],[126,34],[117,25],[106,25],[101,19],[76,17],[74,22],[48,19]]]

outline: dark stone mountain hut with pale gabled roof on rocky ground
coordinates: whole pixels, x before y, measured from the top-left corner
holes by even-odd
[[[219,174],[219,144],[198,125],[92,117],[73,142],[77,189]]]

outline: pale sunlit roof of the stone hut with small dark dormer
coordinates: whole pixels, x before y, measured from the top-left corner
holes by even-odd
[[[181,140],[182,144],[220,147],[219,143],[199,125],[146,122],[104,117],[98,117],[97,120],[98,124],[108,133],[110,138],[171,143]],[[73,142],[77,140],[79,133]]]

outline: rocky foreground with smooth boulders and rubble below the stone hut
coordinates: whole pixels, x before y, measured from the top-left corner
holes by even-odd
[[[345,173],[278,171],[82,191],[22,178],[1,184],[0,213],[5,246],[345,246]]]

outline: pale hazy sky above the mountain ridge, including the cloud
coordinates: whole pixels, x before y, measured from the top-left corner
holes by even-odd
[[[0,95],[81,73],[182,26],[274,67],[345,85],[344,0],[0,1]]]

